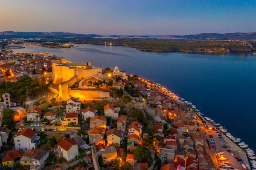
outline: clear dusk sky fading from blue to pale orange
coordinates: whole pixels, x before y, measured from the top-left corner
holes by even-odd
[[[1,0],[0,31],[99,35],[256,32],[256,0]]]

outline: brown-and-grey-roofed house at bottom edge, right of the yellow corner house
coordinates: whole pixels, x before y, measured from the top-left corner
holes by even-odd
[[[39,170],[44,167],[46,159],[49,157],[47,150],[29,150],[21,159],[21,165],[29,165],[30,170]]]

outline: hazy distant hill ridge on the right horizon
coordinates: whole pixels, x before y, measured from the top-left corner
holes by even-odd
[[[197,40],[256,40],[256,32],[249,33],[202,33],[197,35],[165,35],[169,38],[197,39]]]

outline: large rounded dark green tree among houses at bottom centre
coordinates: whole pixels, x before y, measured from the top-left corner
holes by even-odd
[[[137,147],[134,151],[134,159],[138,162],[147,162],[149,166],[153,164],[150,150],[147,147]]]

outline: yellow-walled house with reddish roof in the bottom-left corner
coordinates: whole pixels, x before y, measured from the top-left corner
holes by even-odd
[[[20,158],[22,156],[23,150],[12,150],[7,151],[3,154],[2,164],[3,166],[8,165],[12,166],[15,162],[15,159]]]

